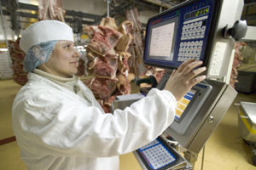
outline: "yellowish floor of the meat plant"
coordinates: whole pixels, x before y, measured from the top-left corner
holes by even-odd
[[[0,81],[0,141],[14,136],[11,122],[11,107],[15,94],[21,88],[13,80]],[[137,89],[135,89],[137,91]],[[238,94],[234,103],[249,101],[256,103],[256,93]],[[255,113],[256,114],[256,113]],[[237,113],[230,106],[218,127],[212,133],[206,144],[204,170],[254,170],[251,157],[252,149],[240,138],[237,123]],[[202,151],[201,151],[202,152]],[[195,170],[201,169],[202,153],[195,163]],[[20,150],[16,142],[0,145],[1,170],[25,170],[25,164],[20,161]],[[120,170],[141,170],[132,153],[120,156]]]

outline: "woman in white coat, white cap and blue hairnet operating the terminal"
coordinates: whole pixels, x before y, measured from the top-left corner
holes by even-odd
[[[79,53],[69,26],[37,22],[23,32],[20,48],[29,81],[15,97],[13,128],[28,169],[119,169],[119,155],[156,139],[172,123],[177,99],[205,78],[195,77],[205,67],[192,71],[201,61],[187,60],[165,90],[152,89],[125,111],[105,114],[74,76]]]

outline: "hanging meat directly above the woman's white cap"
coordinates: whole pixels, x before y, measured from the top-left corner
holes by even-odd
[[[61,0],[39,0],[38,20],[61,20],[65,22],[66,10],[62,8]]]

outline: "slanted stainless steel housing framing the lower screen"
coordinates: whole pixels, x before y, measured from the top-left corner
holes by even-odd
[[[205,105],[201,107],[194,121],[189,126],[184,135],[180,135],[172,128],[167,128],[166,133],[177,140],[184,148],[199,153],[211,136],[214,129],[218,126],[225,112],[229,109],[233,100],[236,98],[236,91],[225,82],[205,80],[204,83],[212,86],[212,93],[209,95]],[[209,117],[214,120],[208,122]]]

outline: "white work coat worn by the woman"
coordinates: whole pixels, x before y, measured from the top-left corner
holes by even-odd
[[[174,119],[177,102],[166,90],[152,89],[112,115],[81,81],[80,92],[91,103],[34,73],[28,79],[13,105],[20,158],[28,169],[117,170],[120,155],[153,141]]]

